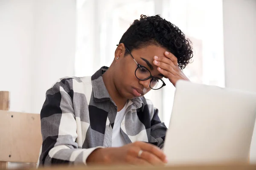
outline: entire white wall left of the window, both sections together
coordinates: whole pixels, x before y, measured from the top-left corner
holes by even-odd
[[[11,111],[39,113],[47,89],[73,76],[76,0],[0,0],[0,91]]]

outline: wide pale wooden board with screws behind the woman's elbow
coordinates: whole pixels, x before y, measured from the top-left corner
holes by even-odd
[[[0,111],[0,160],[37,162],[42,144],[39,114]]]

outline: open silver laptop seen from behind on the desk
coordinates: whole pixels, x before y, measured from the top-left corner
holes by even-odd
[[[163,148],[169,164],[248,162],[256,93],[178,81]]]

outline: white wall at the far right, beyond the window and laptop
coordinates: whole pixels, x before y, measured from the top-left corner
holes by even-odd
[[[223,0],[226,87],[256,92],[256,0]],[[250,161],[256,163],[256,126]]]

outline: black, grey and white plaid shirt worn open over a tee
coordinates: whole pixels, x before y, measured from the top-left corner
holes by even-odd
[[[40,165],[86,164],[93,150],[111,147],[117,107],[102,79],[107,69],[102,67],[87,82],[84,80],[88,77],[59,79],[46,92],[41,110]],[[89,95],[85,89],[88,87],[92,88]],[[121,124],[127,144],[143,141],[162,148],[166,130],[150,100],[144,97],[129,100]]]

